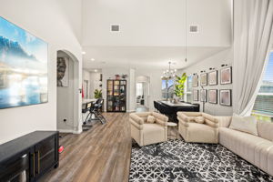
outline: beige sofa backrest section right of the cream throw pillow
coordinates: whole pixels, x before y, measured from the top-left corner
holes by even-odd
[[[267,121],[258,121],[258,136],[273,141],[273,123]]]

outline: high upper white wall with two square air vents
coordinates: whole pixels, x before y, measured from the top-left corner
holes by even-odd
[[[229,46],[231,2],[188,0],[187,25],[199,25],[199,33],[188,34],[187,45]],[[186,0],[83,0],[83,45],[185,45],[185,9]]]

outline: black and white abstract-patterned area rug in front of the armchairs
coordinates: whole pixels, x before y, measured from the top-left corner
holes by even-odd
[[[132,147],[129,181],[273,181],[226,147],[183,140]]]

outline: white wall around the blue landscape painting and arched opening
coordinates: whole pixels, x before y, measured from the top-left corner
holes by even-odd
[[[1,0],[1,16],[48,43],[48,103],[0,110],[0,143],[35,130],[56,130],[57,50],[65,49],[74,54],[82,67],[79,34],[71,28],[80,22],[78,3],[78,0]],[[66,13],[72,6],[75,10],[69,13],[75,19],[69,21]],[[80,69],[79,88],[81,73]]]

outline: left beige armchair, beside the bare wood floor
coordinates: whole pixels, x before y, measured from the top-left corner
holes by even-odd
[[[147,116],[156,117],[156,122],[147,123]],[[167,116],[156,112],[130,114],[131,136],[138,146],[147,146],[167,141]]]

